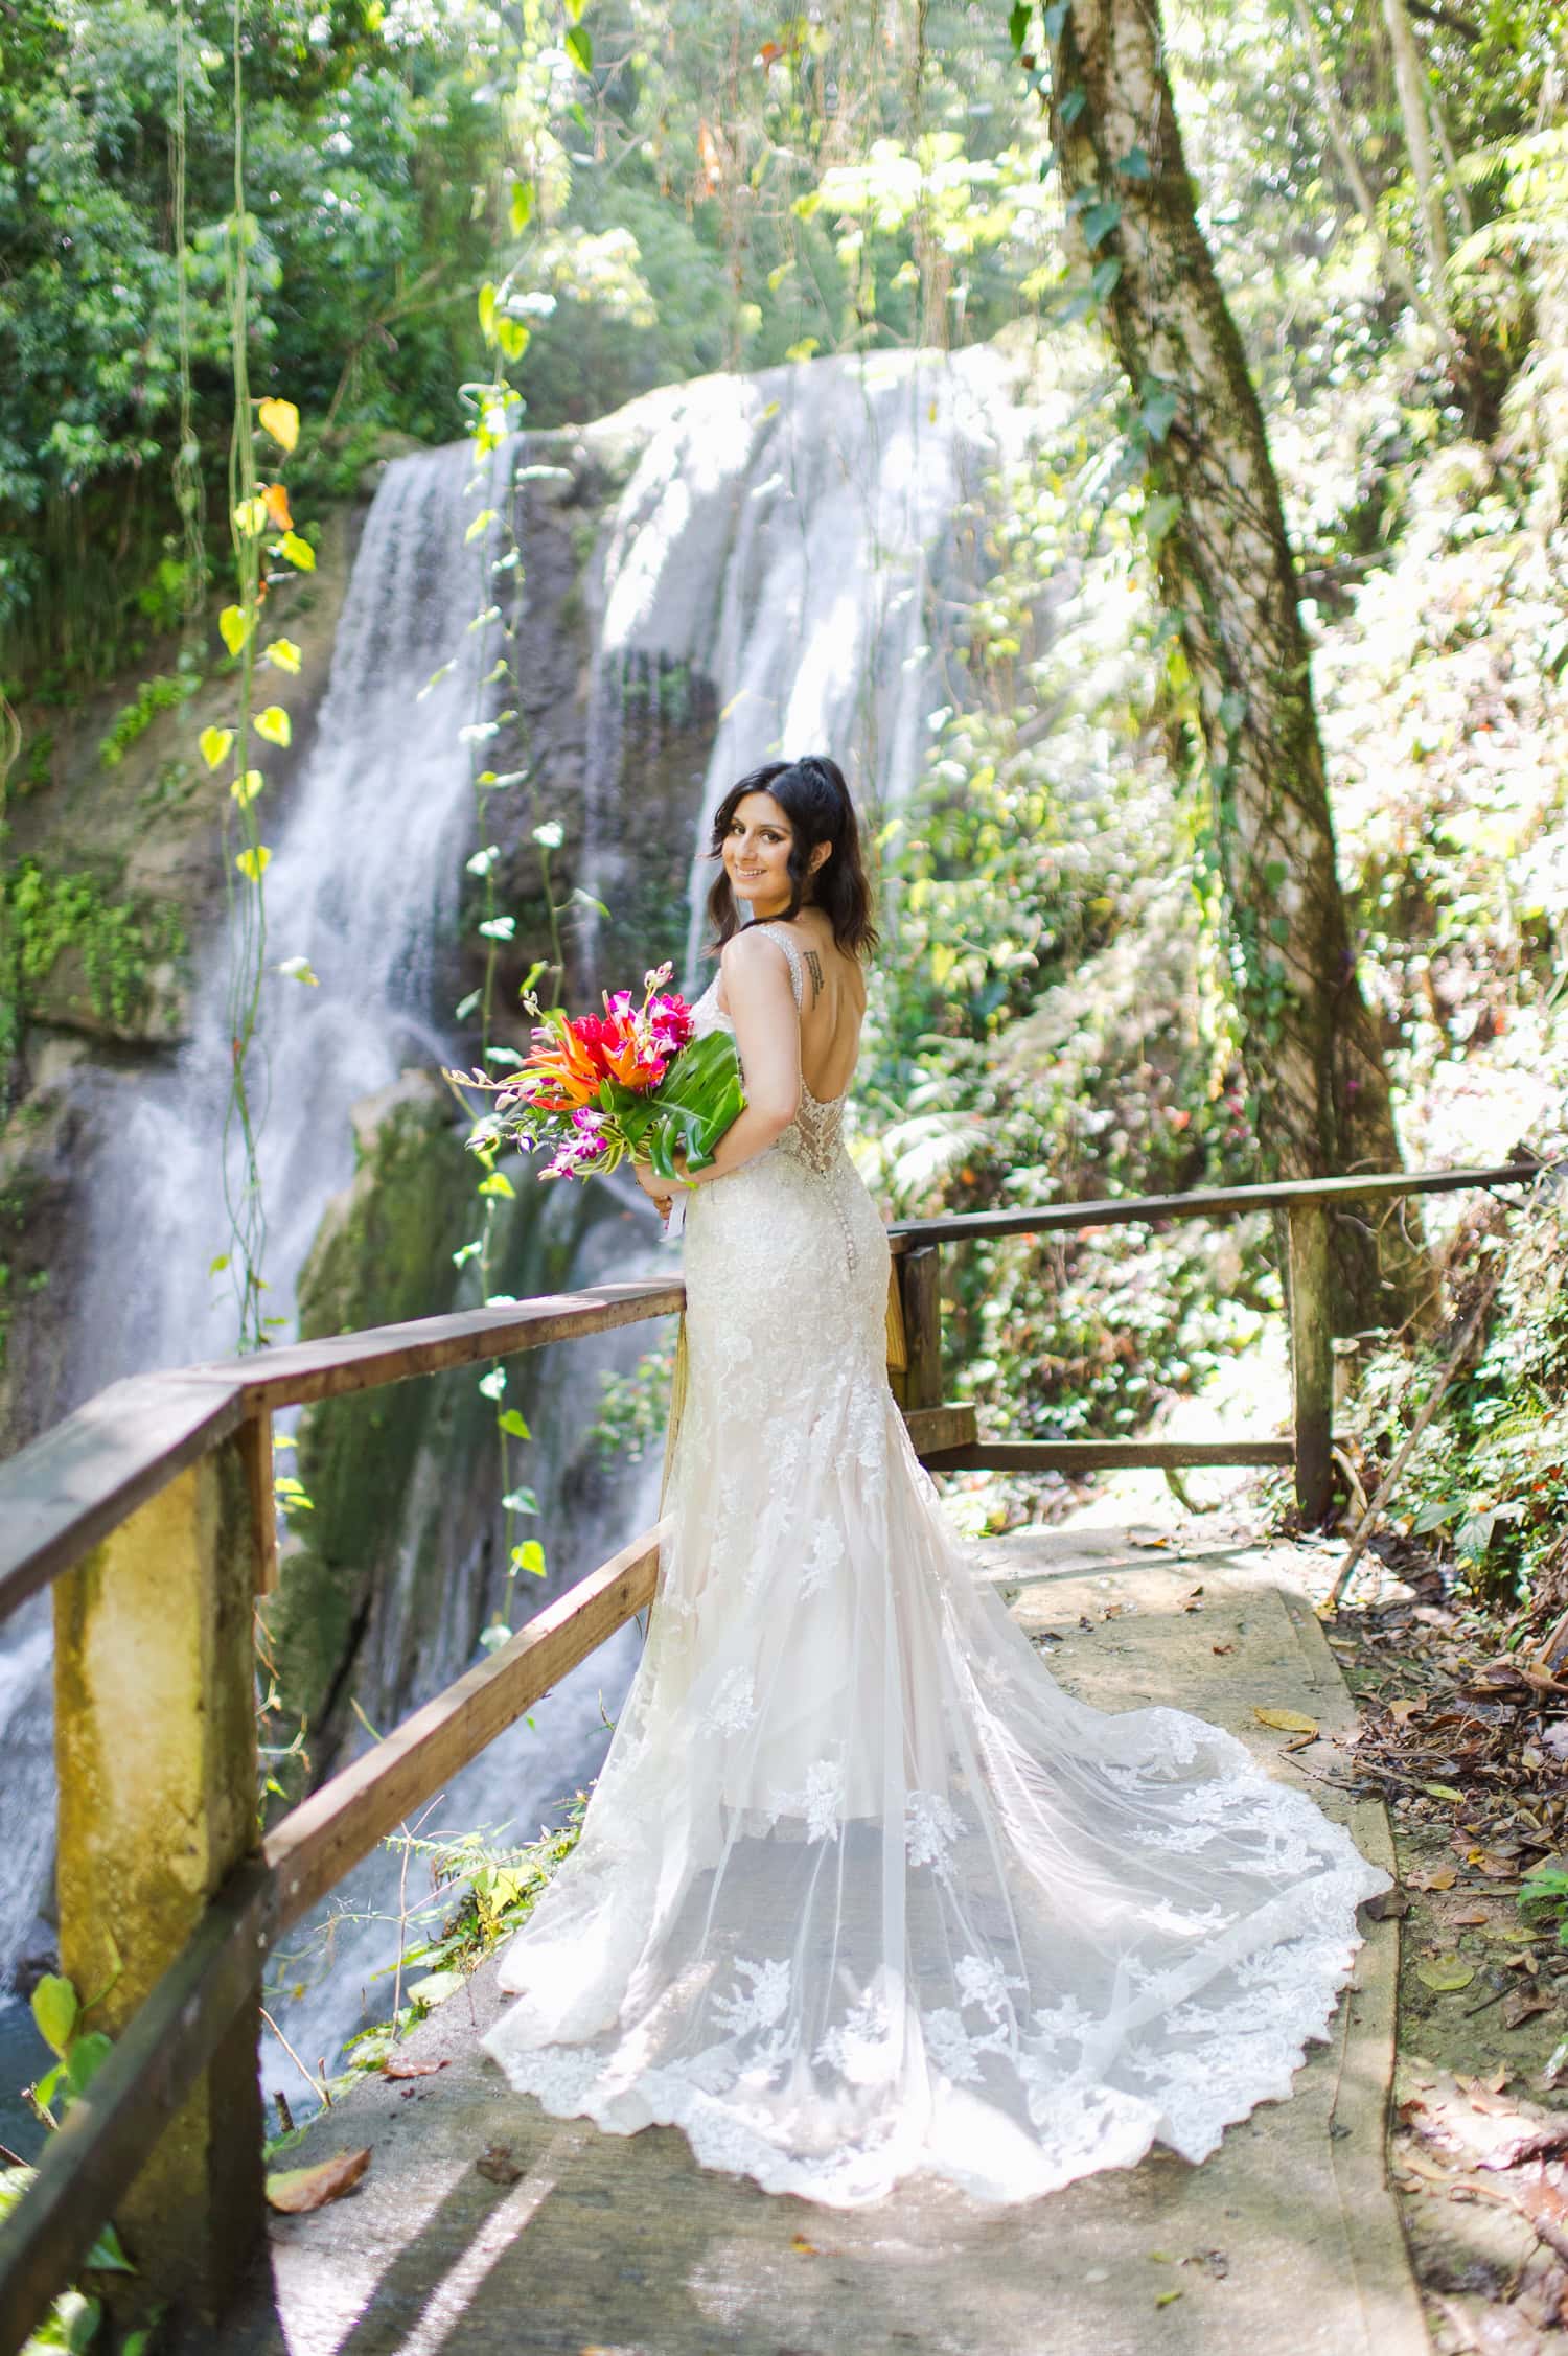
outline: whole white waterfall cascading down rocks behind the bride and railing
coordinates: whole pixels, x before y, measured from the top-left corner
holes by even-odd
[[[625,876],[620,686],[637,664],[689,667],[714,714],[700,806],[677,862],[698,853],[726,785],[780,747],[832,749],[872,808],[894,806],[920,773],[938,653],[950,643],[969,565],[955,514],[1028,436],[1019,365],[990,349],[953,358],[877,353],[759,377],[712,377],[651,393],[589,426],[580,443],[641,457],[599,535],[589,580],[589,671],[582,881],[615,902]],[[495,457],[498,476],[514,452]],[[439,947],[450,938],[472,799],[457,730],[476,716],[483,634],[483,549],[465,544],[479,504],[505,504],[500,481],[465,497],[472,450],[455,445],[387,469],[365,521],[344,603],[316,747],[266,872],[269,968],[307,957],[318,987],[266,975],[266,1088],[259,1133],[269,1218],[269,1312],[292,1319],[295,1284],[328,1199],[351,1176],[347,1107],[406,1063],[462,1058],[431,1008]],[[523,551],[526,554],[526,551]],[[417,700],[417,688],[453,667]],[[938,697],[936,697],[938,700]],[[540,780],[549,801],[549,777]],[[94,1077],[83,1166],[90,1282],[73,1399],[108,1381],[233,1348],[229,1289],[207,1275],[224,1251],[222,1107],[229,1086],[226,949],[198,975],[193,1030],[177,1065]],[[627,1275],[622,1220],[589,1223],[568,1282]],[[660,1263],[667,1265],[667,1263]],[[278,1329],[283,1331],[283,1329]],[[549,1428],[592,1421],[597,1369],[646,1348],[637,1329],[604,1348],[561,1352]],[[552,1442],[540,1428],[540,1447]],[[653,1489],[651,1489],[653,1484]],[[547,1480],[538,1482],[549,1515]],[[655,1468],[634,1468],[599,1522],[549,1529],[559,1576],[604,1560],[655,1503]],[[0,1986],[26,1941],[50,1861],[47,1616],[0,1628]],[[599,1696],[613,1713],[634,1640],[582,1663],[535,1713],[455,1779],[441,1821],[538,1828],[549,1805],[594,1772]],[[450,1663],[427,1663],[436,1682]],[[417,1696],[415,1696],[417,1699]],[[349,1906],[387,1913],[396,1859],[368,1861]],[[365,1977],[396,1953],[396,1927],[342,1922],[330,1981],[295,1998],[297,2043],[314,2062],[354,2026]],[[0,2021],[0,2038],[5,2024]]]

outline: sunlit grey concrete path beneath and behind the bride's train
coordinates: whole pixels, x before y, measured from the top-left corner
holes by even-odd
[[[1030,1531],[986,1564],[1094,1703],[1174,1701],[1285,1779],[1320,1774],[1330,1743],[1280,1758],[1290,1736],[1254,1706],[1304,1710],[1325,1736],[1351,1725],[1287,1548],[1174,1557],[1111,1529]],[[1391,1861],[1379,1807],[1311,1788]],[[1231,2127],[1203,2168],[1155,2153],[1004,2212],[941,2189],[837,2212],[696,2168],[674,2130],[620,2139],[545,2118],[474,2047],[502,2003],[486,1967],[410,2040],[448,2069],[365,2080],[314,2123],[297,2165],[368,2144],[370,2170],[332,2208],[274,2219],[222,2351],[1427,2356],[1384,2184],[1394,1977],[1382,1922],[1294,2097]],[[495,2182],[505,2163],[476,2168],[498,2144],[512,2184]]]

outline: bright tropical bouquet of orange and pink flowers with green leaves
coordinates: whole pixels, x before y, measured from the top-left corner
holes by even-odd
[[[641,1006],[630,990],[606,990],[601,1015],[571,1020],[552,1006],[507,1079],[443,1072],[495,1098],[469,1145],[549,1145],[542,1178],[587,1178],[620,1162],[651,1162],[660,1178],[679,1178],[677,1152],[686,1169],[705,1169],[745,1110],[740,1065],[729,1032],[691,1037],[691,1006],[665,990],[670,971],[644,973]]]

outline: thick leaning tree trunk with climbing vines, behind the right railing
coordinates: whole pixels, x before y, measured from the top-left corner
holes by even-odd
[[[1068,210],[1137,393],[1151,490],[1174,502],[1160,596],[1198,697],[1264,1154],[1290,1178],[1401,1169],[1339,891],[1280,492],[1198,226],[1158,0],[1059,0],[1047,33]],[[1424,1275],[1412,1218],[1377,1237],[1335,1220],[1337,1331],[1401,1322]]]

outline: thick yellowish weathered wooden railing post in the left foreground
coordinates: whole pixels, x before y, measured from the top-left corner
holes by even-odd
[[[111,2038],[257,1847],[255,1440],[186,1465],[54,1586],[59,1951]],[[116,2210],[141,2299],[207,2323],[264,2229],[257,2007]]]

